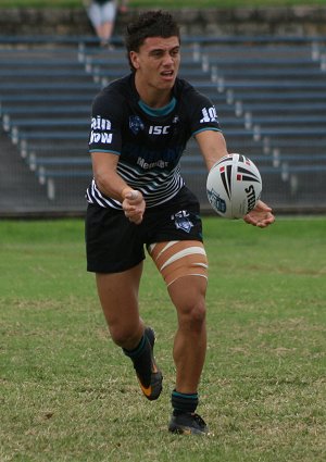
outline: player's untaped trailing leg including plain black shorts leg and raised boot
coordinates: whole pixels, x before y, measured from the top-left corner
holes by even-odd
[[[89,205],[86,216],[87,269],[97,288],[113,341],[123,348],[148,399],[162,390],[162,374],[153,358],[154,334],[139,315],[138,290],[143,245],[139,227],[121,211]]]

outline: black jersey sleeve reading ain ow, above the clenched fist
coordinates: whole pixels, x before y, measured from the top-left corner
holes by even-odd
[[[122,146],[122,101],[112,92],[100,93],[91,109],[89,152],[120,154]]]

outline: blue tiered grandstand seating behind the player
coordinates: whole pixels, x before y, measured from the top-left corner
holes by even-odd
[[[122,42],[0,36],[0,215],[85,211],[90,105],[128,73]],[[250,157],[279,211],[326,209],[326,37],[186,37],[179,75],[216,105],[230,152]],[[181,162],[210,210],[195,141]]]

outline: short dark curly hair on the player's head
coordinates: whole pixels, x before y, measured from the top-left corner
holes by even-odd
[[[172,14],[164,11],[147,11],[127,26],[125,45],[131,71],[135,71],[130,62],[130,51],[139,51],[139,48],[148,37],[168,38],[176,36],[180,41],[179,26]]]

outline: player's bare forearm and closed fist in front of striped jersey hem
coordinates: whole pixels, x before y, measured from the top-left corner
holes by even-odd
[[[140,191],[130,188],[116,172],[118,155],[111,152],[91,152],[95,182],[100,191],[122,203],[127,218],[135,224],[142,221],[146,203]]]

